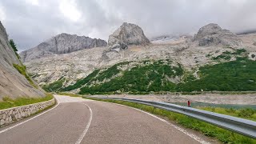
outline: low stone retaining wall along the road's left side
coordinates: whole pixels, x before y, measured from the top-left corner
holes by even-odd
[[[19,121],[22,118],[26,118],[31,114],[35,114],[40,110],[45,110],[47,107],[53,106],[54,103],[55,98],[46,102],[38,102],[26,106],[18,106],[0,110],[0,126],[6,126],[12,122]]]

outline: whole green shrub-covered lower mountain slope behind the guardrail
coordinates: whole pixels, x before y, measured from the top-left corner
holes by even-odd
[[[227,55],[234,58],[228,61]],[[165,60],[121,62],[102,70],[94,70],[74,85],[58,91],[79,94],[145,94],[160,91],[236,91],[256,90],[256,62],[247,57],[246,50],[226,52],[211,57],[221,63],[186,70],[179,63]]]

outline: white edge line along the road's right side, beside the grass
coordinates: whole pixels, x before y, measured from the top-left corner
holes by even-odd
[[[99,102],[103,102],[103,101],[99,101]],[[112,104],[118,105],[118,106],[125,106],[125,105],[121,105],[121,104],[113,103],[113,102],[107,102],[107,103],[112,103]],[[170,125],[170,126],[173,126],[175,129],[180,130],[182,133],[184,133],[184,134],[190,136],[190,138],[193,138],[194,140],[196,140],[196,141],[198,141],[198,142],[200,142],[200,143],[202,143],[202,144],[210,144],[210,142],[204,141],[202,138],[199,138],[197,135],[195,135],[195,134],[190,134],[189,132],[187,132],[186,130],[182,129],[181,127],[175,126],[174,124],[172,124],[172,123],[170,123],[170,122],[167,122],[165,119],[159,118],[158,116],[156,116],[156,115],[154,115],[154,114],[150,114],[150,113],[148,113],[148,112],[146,112],[146,111],[139,110],[139,109],[136,109],[136,108],[131,107],[131,106],[125,106],[125,107],[129,107],[129,108],[132,108],[132,109],[134,109],[134,110],[138,110],[138,111],[140,111],[140,112],[142,112],[142,113],[145,113],[145,114],[150,115],[151,117],[157,118],[158,120],[160,120],[160,121],[162,121],[162,122],[165,122],[166,124],[168,124],[168,125]]]

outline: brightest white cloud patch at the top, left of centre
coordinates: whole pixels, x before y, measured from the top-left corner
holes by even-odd
[[[82,14],[77,10],[74,0],[64,0],[59,5],[59,10],[64,14],[66,18],[69,18],[73,22],[78,22]]]

